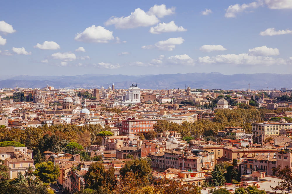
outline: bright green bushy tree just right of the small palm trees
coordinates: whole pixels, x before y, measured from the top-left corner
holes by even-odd
[[[60,175],[59,165],[54,165],[53,162],[42,162],[36,164],[34,175],[39,176],[44,183],[52,183],[57,180]]]

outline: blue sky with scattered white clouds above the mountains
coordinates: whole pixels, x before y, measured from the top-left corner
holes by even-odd
[[[2,1],[0,76],[292,72],[292,0]]]

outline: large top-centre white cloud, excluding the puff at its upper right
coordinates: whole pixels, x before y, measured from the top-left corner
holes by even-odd
[[[157,24],[159,19],[155,15],[148,15],[140,8],[135,9],[131,15],[127,17],[111,17],[105,22],[105,25],[114,24],[115,28],[136,28],[140,26],[152,26]]]

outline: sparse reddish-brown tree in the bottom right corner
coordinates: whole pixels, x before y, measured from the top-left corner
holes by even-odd
[[[281,179],[278,185],[272,188],[273,191],[280,190],[282,191],[291,191],[292,190],[292,170],[289,166],[281,169],[281,165],[278,165],[277,168],[272,169],[277,177]]]

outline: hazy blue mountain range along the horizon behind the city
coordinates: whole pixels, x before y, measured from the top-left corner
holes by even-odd
[[[292,88],[292,74],[233,74],[220,73],[188,73],[188,74],[160,74],[160,75],[107,75],[85,74],[77,76],[14,76],[0,81],[0,88],[44,88],[48,84],[55,88],[100,88],[112,86],[115,88],[129,88],[132,83],[138,83],[140,88],[171,89],[171,88],[208,88],[208,89],[269,89]]]

